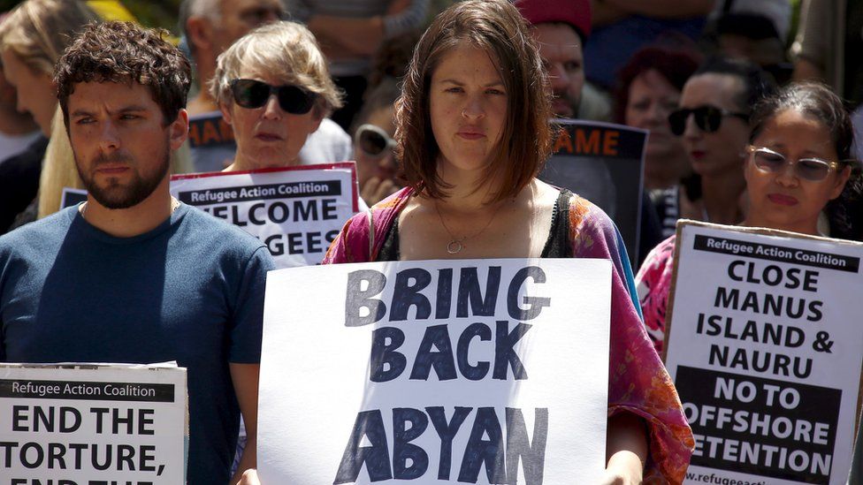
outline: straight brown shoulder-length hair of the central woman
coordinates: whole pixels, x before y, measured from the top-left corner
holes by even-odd
[[[461,42],[484,49],[507,91],[507,119],[484,179],[503,171],[493,201],[515,197],[536,176],[552,145],[546,73],[526,21],[506,0],[467,0],[443,11],[416,45],[396,109],[396,155],[417,192],[446,197],[432,133],[429,85],[440,59]]]

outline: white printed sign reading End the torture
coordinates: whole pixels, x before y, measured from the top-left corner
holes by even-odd
[[[0,485],[186,481],[186,369],[0,364]]]

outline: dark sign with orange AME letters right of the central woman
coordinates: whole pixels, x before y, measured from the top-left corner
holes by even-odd
[[[631,126],[555,119],[561,128],[539,174],[602,208],[621,232],[630,261],[638,261],[647,132]]]

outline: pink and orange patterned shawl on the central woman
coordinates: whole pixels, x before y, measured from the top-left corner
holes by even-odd
[[[414,193],[405,188],[371,210],[374,247],[369,254],[369,217],[352,217],[332,241],[323,264],[374,261],[393,220]],[[608,415],[623,411],[643,418],[650,428],[650,458],[645,483],[684,480],[694,441],[680,399],[668,372],[645,334],[644,324],[630,297],[632,273],[621,257],[621,239],[608,216],[591,202],[574,195],[569,201],[569,240],[576,258],[613,261],[611,349],[608,376]],[[625,252],[624,252],[625,254]]]

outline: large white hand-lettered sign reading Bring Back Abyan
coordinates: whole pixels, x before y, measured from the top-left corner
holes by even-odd
[[[610,288],[602,260],[271,271],[262,482],[598,482]]]

